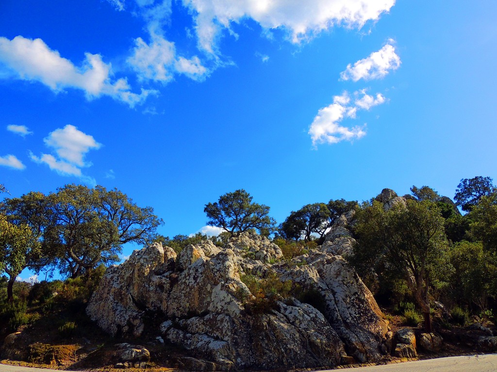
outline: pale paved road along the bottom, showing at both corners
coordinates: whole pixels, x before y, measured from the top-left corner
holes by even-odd
[[[0,364],[0,372],[43,372],[47,370]],[[358,367],[321,372],[497,372],[497,354],[429,359],[386,366]],[[58,371],[64,372],[64,371]]]

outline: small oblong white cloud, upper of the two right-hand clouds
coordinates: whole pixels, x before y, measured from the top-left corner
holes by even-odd
[[[355,62],[353,66],[349,63],[345,71],[340,73],[340,78],[353,81],[378,79],[386,76],[391,70],[399,68],[400,65],[401,59],[395,53],[395,47],[387,44],[378,52],[371,53],[367,58]]]

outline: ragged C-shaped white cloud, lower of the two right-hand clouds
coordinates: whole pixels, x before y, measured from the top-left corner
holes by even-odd
[[[348,92],[343,92],[340,96],[333,97],[333,103],[330,106],[318,111],[318,115],[309,128],[309,135],[315,148],[320,143],[352,141],[366,135],[364,126],[347,127],[340,123],[346,118],[355,119],[359,109],[369,110],[373,106],[384,103],[385,97],[379,93],[376,97],[370,96],[365,89],[356,91],[353,95],[355,97],[353,104],[351,104],[352,99]]]

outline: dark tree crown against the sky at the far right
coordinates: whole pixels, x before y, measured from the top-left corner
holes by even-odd
[[[490,177],[465,178],[457,186],[454,200],[462,210],[469,212],[473,206],[480,202],[483,196],[489,196],[495,192],[495,189]]]

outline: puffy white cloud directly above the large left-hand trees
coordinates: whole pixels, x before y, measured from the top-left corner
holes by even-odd
[[[92,177],[83,175],[82,168],[92,164],[85,162],[84,157],[89,150],[99,149],[101,144],[83,133],[74,125],[68,124],[64,128],[55,129],[44,140],[45,145],[55,151],[57,157],[51,154],[41,154],[40,157],[30,154],[35,163],[46,164],[61,176],[76,176],[90,185],[96,182]]]

